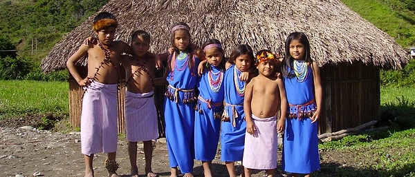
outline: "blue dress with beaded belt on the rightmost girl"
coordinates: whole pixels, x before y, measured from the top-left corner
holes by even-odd
[[[302,82],[297,77],[284,77],[290,107],[284,130],[282,169],[295,174],[310,174],[320,169],[317,122],[311,123],[310,119],[316,109],[310,66],[306,73]]]

